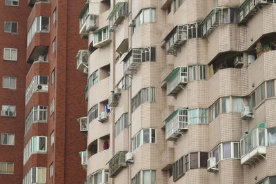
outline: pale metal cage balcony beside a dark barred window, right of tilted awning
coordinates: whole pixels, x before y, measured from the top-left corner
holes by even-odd
[[[142,63],[142,49],[134,48],[124,58],[124,74],[136,74],[139,65]]]

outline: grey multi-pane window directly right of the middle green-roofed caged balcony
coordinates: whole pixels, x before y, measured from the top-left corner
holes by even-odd
[[[206,80],[206,65],[193,65],[188,67],[189,81]]]

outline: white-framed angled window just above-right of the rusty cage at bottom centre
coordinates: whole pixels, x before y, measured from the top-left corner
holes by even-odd
[[[153,128],[140,130],[132,138],[132,151],[136,150],[142,144],[156,143],[156,130]]]

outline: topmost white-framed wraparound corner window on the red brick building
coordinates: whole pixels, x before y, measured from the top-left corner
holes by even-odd
[[[32,41],[34,34],[37,32],[49,32],[49,17],[35,17],[27,34],[27,46]]]

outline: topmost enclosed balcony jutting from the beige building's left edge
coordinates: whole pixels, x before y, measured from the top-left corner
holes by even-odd
[[[79,34],[81,38],[88,39],[89,31],[98,28],[99,3],[86,3],[79,13]]]

